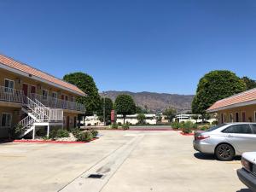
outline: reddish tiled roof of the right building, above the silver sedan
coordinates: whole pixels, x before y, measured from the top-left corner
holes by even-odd
[[[219,108],[232,107],[236,104],[246,105],[247,102],[256,102],[256,89],[247,90],[215,102],[207,111],[218,111]]]

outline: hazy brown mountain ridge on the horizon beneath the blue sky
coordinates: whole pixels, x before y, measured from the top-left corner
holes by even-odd
[[[177,111],[184,108],[190,109],[193,95],[178,95],[168,93],[154,93],[154,92],[130,92],[130,91],[104,91],[104,95],[111,98],[113,101],[120,94],[131,95],[136,102],[137,106],[148,109],[152,112],[162,112],[166,108],[176,108]],[[101,93],[102,96],[102,93]]]

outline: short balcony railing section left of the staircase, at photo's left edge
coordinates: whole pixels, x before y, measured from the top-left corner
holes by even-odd
[[[23,91],[0,86],[0,101],[23,102]]]

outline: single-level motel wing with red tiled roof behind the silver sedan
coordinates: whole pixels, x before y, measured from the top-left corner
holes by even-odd
[[[256,89],[219,100],[207,113],[218,113],[218,124],[256,122]]]

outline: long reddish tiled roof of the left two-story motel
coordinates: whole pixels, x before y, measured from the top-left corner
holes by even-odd
[[[21,63],[20,61],[15,61],[14,59],[9,58],[5,55],[0,55],[0,63],[2,63],[7,67],[12,67],[16,70],[19,70],[20,72],[31,74],[39,79],[44,79],[44,81],[57,84],[63,87],[64,89],[66,88],[67,90],[77,92],[79,93],[79,95],[85,96],[84,92],[80,90],[77,86],[73,84],[69,84],[66,81],[63,81],[61,79],[57,79],[54,76],[49,75],[48,73],[44,73],[36,68],[30,67],[24,63]]]

